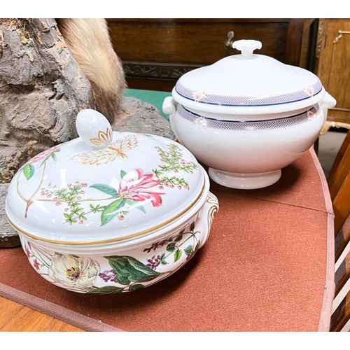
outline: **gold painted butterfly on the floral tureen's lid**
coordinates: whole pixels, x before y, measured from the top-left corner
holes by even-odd
[[[129,135],[127,137],[123,137],[123,139],[117,140],[113,145],[108,146],[107,148],[80,153],[71,158],[71,160],[90,165],[107,164],[108,162],[113,162],[113,160],[116,160],[117,157],[126,159],[127,155],[125,152],[130,151],[135,147],[137,147],[137,138],[135,135]]]

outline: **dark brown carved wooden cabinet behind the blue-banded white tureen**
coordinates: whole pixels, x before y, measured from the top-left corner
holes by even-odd
[[[128,86],[167,92],[183,73],[237,55],[237,50],[224,46],[230,31],[234,32],[233,41],[261,41],[258,53],[307,69],[312,62],[313,34],[317,32],[314,19],[298,18],[107,20]]]

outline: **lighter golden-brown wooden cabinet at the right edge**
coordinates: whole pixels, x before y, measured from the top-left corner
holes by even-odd
[[[314,73],[337,100],[328,111],[322,133],[329,127],[350,129],[350,19],[321,18],[318,24]]]

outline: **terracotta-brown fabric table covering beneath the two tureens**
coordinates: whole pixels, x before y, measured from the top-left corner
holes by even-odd
[[[211,183],[211,192],[220,209],[207,243],[153,286],[119,295],[69,292],[36,274],[19,247],[0,250],[0,295],[92,331],[328,331],[333,214],[314,150],[273,186]]]

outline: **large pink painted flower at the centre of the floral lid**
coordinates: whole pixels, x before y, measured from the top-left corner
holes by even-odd
[[[158,208],[162,205],[162,197],[165,193],[157,193],[149,188],[160,185],[162,181],[153,179],[154,173],[145,173],[141,169],[135,169],[135,172],[125,174],[119,183],[118,195],[125,200],[134,202],[151,201],[153,207]]]

